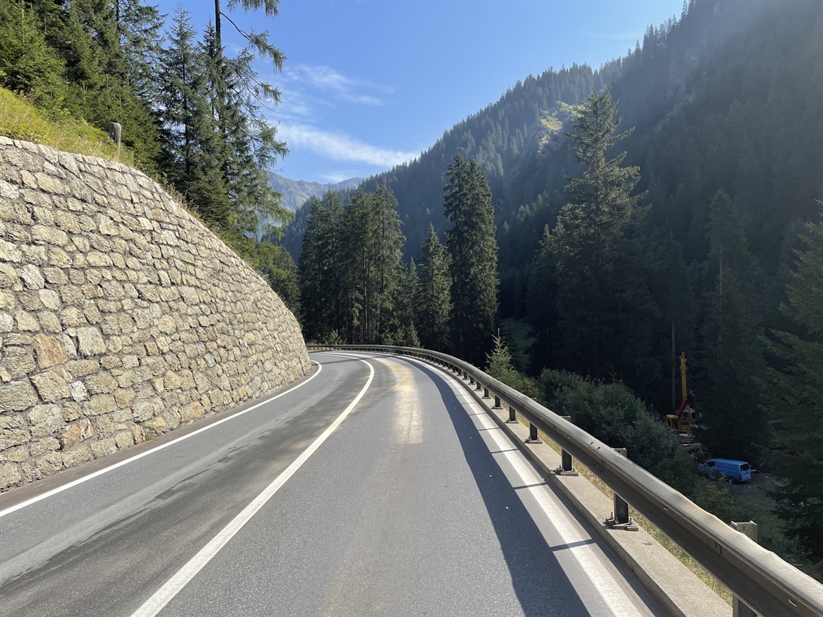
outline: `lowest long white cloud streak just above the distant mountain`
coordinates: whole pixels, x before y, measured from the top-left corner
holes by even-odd
[[[346,133],[327,132],[307,124],[284,122],[277,133],[278,137],[286,140],[290,148],[307,148],[332,160],[351,160],[388,168],[416,156],[414,152],[373,146]]]

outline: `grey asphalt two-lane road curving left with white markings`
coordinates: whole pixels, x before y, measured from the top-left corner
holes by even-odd
[[[664,615],[455,378],[312,359],[274,400],[0,497],[0,614]]]

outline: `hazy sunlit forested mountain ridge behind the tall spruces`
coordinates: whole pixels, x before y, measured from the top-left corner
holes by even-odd
[[[533,205],[541,195],[544,202],[552,195],[562,202],[565,177],[579,171],[565,147],[571,106],[579,104],[593,86],[598,91],[611,87],[621,101],[625,125],[637,126],[635,141],[641,132],[646,137],[667,114],[700,97],[705,83],[694,76],[714,72],[718,63],[714,54],[719,48],[746,32],[753,21],[764,21],[764,12],[774,10],[768,2],[691,2],[679,20],[650,26],[642,44],[596,71],[574,64],[518,81],[500,100],[444,132],[420,157],[367,179],[363,188],[374,191],[382,182],[392,188],[407,237],[404,253],[417,258],[429,224],[441,234],[445,229],[442,189],[446,165],[458,151],[475,158],[489,179],[501,228],[500,265],[507,267],[504,221],[517,220],[520,206]],[[797,7],[788,3],[783,10],[792,14]],[[751,42],[738,40],[737,44]],[[630,151],[630,156],[634,155]],[[527,242],[528,250],[523,247],[519,261],[533,256],[542,226],[553,220],[557,207],[555,204],[553,213],[543,212],[539,220],[529,221],[537,231]],[[286,227],[286,246],[290,248],[300,244],[292,237],[302,234],[305,222],[301,225],[301,218],[305,220],[305,212],[298,211],[295,228]],[[518,243],[508,244],[514,248]],[[293,256],[296,259],[297,255]]]

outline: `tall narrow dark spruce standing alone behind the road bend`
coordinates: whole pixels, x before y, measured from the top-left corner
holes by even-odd
[[[491,349],[497,313],[495,209],[486,174],[472,159],[455,155],[444,187],[451,256],[451,339],[455,353],[480,366]]]

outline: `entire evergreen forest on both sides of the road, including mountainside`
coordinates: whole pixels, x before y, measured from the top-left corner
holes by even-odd
[[[748,520],[662,421],[685,353],[704,453],[775,479],[761,543],[821,578],[823,5],[684,2],[625,56],[518,81],[293,220],[260,111],[280,92],[252,67],[284,54],[265,32],[221,42],[232,11],[277,7],[216,2],[198,33],[141,0],[0,0],[0,87],[53,123],[118,118],[135,165],[267,276],[307,342],[458,355]]]

